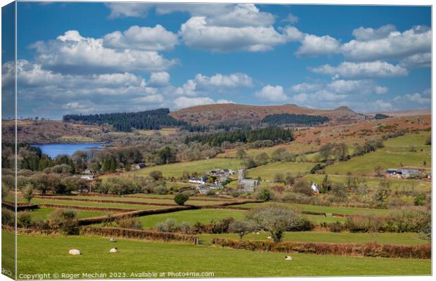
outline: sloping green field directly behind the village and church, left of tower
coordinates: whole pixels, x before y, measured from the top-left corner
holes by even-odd
[[[130,174],[136,174],[141,176],[148,176],[150,174],[150,171],[161,171],[163,176],[166,178],[180,178],[184,171],[187,171],[188,173],[192,174],[193,172],[197,172],[200,175],[205,174],[206,171],[210,171],[214,168],[218,169],[238,169],[238,166],[241,164],[241,159],[219,159],[219,158],[212,158],[212,159],[205,159],[205,160],[198,160],[198,161],[192,161],[192,162],[179,162],[179,163],[172,163],[172,164],[165,164],[160,166],[151,166],[147,167],[141,170],[136,170],[129,172]]]

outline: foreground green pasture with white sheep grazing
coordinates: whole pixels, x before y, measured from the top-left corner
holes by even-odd
[[[10,235],[3,233],[4,236]],[[169,271],[212,272],[214,277],[431,273],[430,259],[292,254],[293,261],[286,261],[281,253],[136,240],[118,240],[116,247],[119,252],[116,254],[108,252],[112,247],[113,243],[100,237],[19,235],[18,274],[98,272],[107,273],[108,277],[109,273],[125,273],[125,277],[132,278],[132,273]],[[72,248],[79,249],[82,255],[68,255],[68,249]]]

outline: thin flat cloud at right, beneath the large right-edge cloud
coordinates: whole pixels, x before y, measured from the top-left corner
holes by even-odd
[[[401,77],[408,74],[407,70],[400,65],[391,65],[379,60],[368,63],[344,62],[338,66],[322,65],[312,68],[312,71],[319,74],[331,75],[335,79]]]

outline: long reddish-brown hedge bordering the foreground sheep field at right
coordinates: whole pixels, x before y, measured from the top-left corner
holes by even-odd
[[[431,245],[392,244],[336,244],[315,242],[280,242],[231,240],[214,238],[212,244],[219,247],[245,249],[250,251],[277,251],[283,253],[333,254],[340,256],[372,256],[402,259],[431,259]]]

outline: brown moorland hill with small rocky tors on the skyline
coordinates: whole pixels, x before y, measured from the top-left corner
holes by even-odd
[[[268,106],[233,103],[198,105],[169,113],[175,119],[199,125],[260,124],[262,119],[269,115],[281,114],[328,117],[328,124],[348,124],[370,118],[345,106],[335,110],[316,110],[292,104]]]

